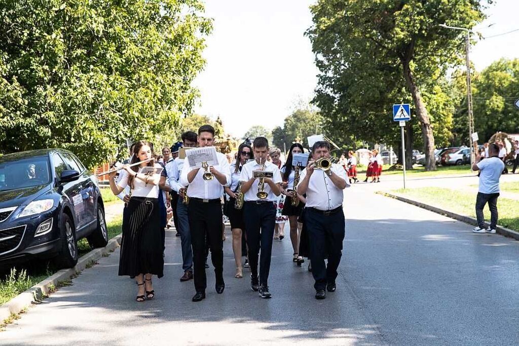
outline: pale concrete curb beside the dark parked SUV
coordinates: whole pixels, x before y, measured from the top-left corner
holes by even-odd
[[[12,298],[8,302],[0,306],[0,322],[8,319],[12,314],[18,314],[20,311],[28,308],[33,303],[38,302],[43,297],[53,292],[56,287],[59,287],[64,281],[70,280],[73,276],[83,271],[92,261],[96,261],[103,255],[110,254],[121,243],[121,234],[108,240],[103,248],[96,248],[89,253],[80,257],[77,261],[76,266],[69,269],[61,269],[56,273],[49,276],[47,279],[37,283],[31,288],[20,293],[15,298]]]

